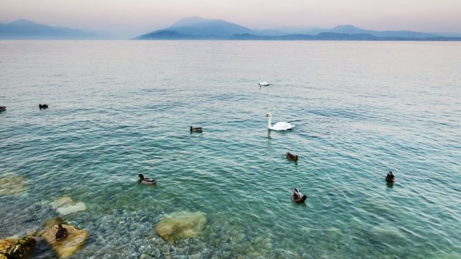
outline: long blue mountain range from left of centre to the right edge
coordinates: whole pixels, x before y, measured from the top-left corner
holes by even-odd
[[[281,27],[274,30],[250,30],[223,20],[188,17],[170,27],[134,38],[136,40],[264,40],[264,41],[461,41],[457,34],[431,34],[411,31],[364,30],[354,25],[333,29]]]

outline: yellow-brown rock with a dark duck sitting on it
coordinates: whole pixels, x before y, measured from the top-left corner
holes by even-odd
[[[69,258],[83,246],[88,237],[88,232],[84,229],[77,229],[72,225],[63,224],[63,227],[67,229],[68,233],[63,240],[56,240],[57,225],[48,228],[43,232],[42,236],[52,246],[59,258]]]

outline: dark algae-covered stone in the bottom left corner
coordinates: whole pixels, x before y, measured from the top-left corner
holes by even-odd
[[[35,244],[35,239],[30,236],[0,239],[0,259],[27,258]]]

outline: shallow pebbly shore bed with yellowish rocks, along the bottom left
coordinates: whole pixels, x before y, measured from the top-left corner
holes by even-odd
[[[233,227],[228,218],[207,222],[203,212],[164,214],[161,210],[152,216],[156,210],[111,206],[98,207],[92,211],[98,212],[94,214],[87,211],[85,203],[68,196],[36,203],[28,195],[18,195],[27,183],[25,177],[6,174],[0,181],[8,183],[3,185],[0,201],[10,201],[0,211],[6,215],[0,216],[21,218],[2,223],[0,237],[28,234],[26,238],[34,238],[36,247],[27,246],[31,258],[276,258],[280,254],[285,258],[291,254],[292,258],[299,257],[283,249],[277,252],[273,235],[255,236],[230,230]],[[15,201],[11,203],[12,200]],[[56,241],[54,234],[61,223],[69,236]]]

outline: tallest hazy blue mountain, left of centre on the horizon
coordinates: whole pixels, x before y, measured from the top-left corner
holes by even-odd
[[[136,37],[137,40],[167,39],[164,37],[168,32],[175,38],[184,36],[184,39],[226,39],[233,34],[251,33],[252,30],[235,23],[223,20],[209,20],[200,17],[189,17],[173,23],[170,27],[163,30],[156,30]],[[175,34],[173,34],[175,32]]]

